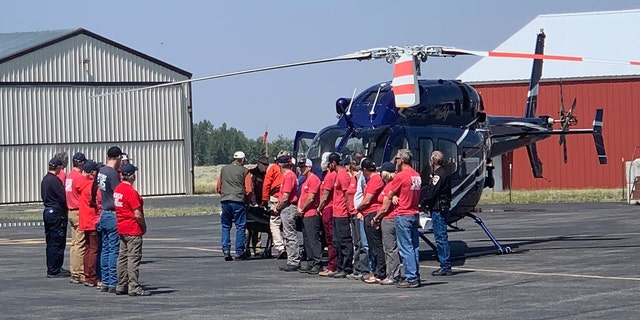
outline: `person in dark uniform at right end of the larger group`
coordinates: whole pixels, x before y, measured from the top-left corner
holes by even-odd
[[[431,212],[433,237],[438,249],[440,269],[433,271],[432,276],[450,276],[451,249],[447,237],[447,219],[451,207],[451,179],[444,166],[444,154],[433,151],[429,159],[431,164],[431,181],[422,190],[422,207]]]

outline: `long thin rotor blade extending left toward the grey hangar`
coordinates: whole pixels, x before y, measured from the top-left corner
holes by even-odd
[[[116,94],[135,92],[135,91],[141,91],[141,90],[149,90],[149,89],[162,88],[162,87],[168,87],[168,86],[175,86],[175,85],[179,85],[179,84],[183,84],[183,83],[198,82],[198,81],[218,79],[218,78],[224,78],[224,77],[232,77],[232,76],[237,76],[237,75],[241,75],[241,74],[248,74],[248,73],[255,73],[255,72],[262,72],[262,71],[269,71],[269,70],[276,70],[276,69],[284,69],[284,68],[291,68],[291,67],[297,67],[297,66],[305,66],[305,65],[311,65],[311,64],[319,64],[319,63],[343,61],[343,60],[368,60],[368,59],[371,59],[371,52],[370,51],[359,51],[359,52],[356,52],[356,53],[346,54],[346,55],[337,56],[337,57],[333,57],[333,58],[327,58],[327,59],[317,59],[317,60],[309,60],[309,61],[302,61],[302,62],[287,63],[287,64],[281,64],[281,65],[270,66],[270,67],[263,67],[263,68],[256,68],[256,69],[249,69],[249,70],[242,70],[242,71],[235,71],[235,72],[229,72],[229,73],[216,74],[216,75],[211,75],[211,76],[206,76],[206,77],[201,77],[201,78],[195,78],[195,79],[187,79],[187,80],[181,80],[181,81],[173,81],[173,82],[161,83],[161,84],[157,84],[157,85],[153,85],[153,86],[147,86],[147,87],[144,87],[144,88],[135,88],[135,89],[129,89],[129,90],[122,90],[122,91],[116,91],[116,92],[110,92],[110,93],[97,94],[97,95],[92,96],[92,98],[105,97],[105,96],[111,96],[111,95],[116,95]]]

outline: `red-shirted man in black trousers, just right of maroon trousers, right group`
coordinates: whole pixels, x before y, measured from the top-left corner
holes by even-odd
[[[351,177],[340,162],[340,154],[329,155],[329,170],[337,172],[333,187],[333,246],[338,253],[338,269],[334,278],[346,278],[353,271],[353,238],[347,197]]]

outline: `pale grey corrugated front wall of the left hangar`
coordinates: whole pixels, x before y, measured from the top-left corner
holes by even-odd
[[[57,151],[104,161],[112,145],[139,166],[141,194],[192,193],[189,85],[91,98],[186,78],[83,34],[0,64],[0,203],[40,201]]]

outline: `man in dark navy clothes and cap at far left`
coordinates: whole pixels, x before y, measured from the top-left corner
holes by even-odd
[[[49,172],[42,178],[40,192],[44,211],[44,234],[47,242],[47,278],[66,278],[71,274],[62,268],[67,240],[67,197],[62,181],[57,175],[62,170],[62,160],[49,160]]]

